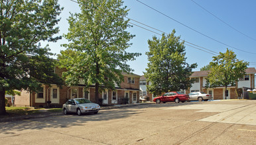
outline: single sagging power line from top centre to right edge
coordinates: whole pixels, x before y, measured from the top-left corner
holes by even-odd
[[[157,13],[160,13],[160,14],[166,16],[167,18],[170,18],[171,20],[174,20],[175,22],[178,22],[178,24],[182,24],[182,26],[185,26],[186,28],[189,28],[189,29],[193,30],[194,32],[197,32],[198,34],[201,34],[202,36],[205,36],[205,37],[207,37],[207,38],[210,38],[211,40],[214,40],[214,41],[216,41],[216,42],[218,42],[218,43],[220,43],[220,44],[226,45],[226,46],[231,47],[231,48],[233,48],[233,49],[237,49],[237,50],[239,50],[239,51],[243,51],[243,52],[245,52],[245,53],[256,54],[256,53],[253,53],[253,52],[249,52],[249,51],[245,51],[245,50],[238,49],[238,48],[233,47],[233,46],[231,46],[231,45],[224,44],[224,42],[220,42],[219,40],[216,40],[216,39],[214,39],[214,38],[211,38],[210,36],[207,36],[206,34],[203,34],[202,32],[199,32],[198,30],[195,30],[194,28],[191,28],[190,26],[187,26],[186,24],[183,24],[182,22],[179,22],[178,20],[175,20],[174,18],[171,18],[170,16],[168,16],[168,15],[166,15],[166,14],[164,14],[164,13],[161,13],[161,12],[158,11],[157,9],[154,9],[153,7],[150,7],[149,5],[143,3],[143,2],[141,2],[141,1],[139,1],[139,0],[136,0],[136,1],[138,1],[139,3],[141,3],[141,4],[143,4],[143,5],[147,6],[147,7],[149,7],[150,9],[153,9],[153,10],[156,11]]]

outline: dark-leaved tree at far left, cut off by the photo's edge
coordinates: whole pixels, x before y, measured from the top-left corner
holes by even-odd
[[[0,1],[0,115],[6,114],[5,91],[61,81],[52,73],[52,53],[38,43],[59,39],[52,36],[61,10],[56,0]]]

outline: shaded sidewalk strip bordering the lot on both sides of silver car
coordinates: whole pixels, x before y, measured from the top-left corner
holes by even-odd
[[[124,104],[124,105],[109,105],[109,106],[101,106],[100,109],[115,109],[119,107],[131,107],[135,105],[149,105],[153,102],[145,102],[145,103],[130,103],[130,104]],[[34,118],[43,118],[43,117],[50,117],[50,116],[56,116],[56,115],[63,115],[63,111],[59,112],[49,112],[47,109],[40,110],[41,113],[34,114],[34,115],[21,115],[21,116],[15,116],[15,117],[1,117],[0,122],[8,122],[8,121],[17,121],[22,119],[34,119]]]

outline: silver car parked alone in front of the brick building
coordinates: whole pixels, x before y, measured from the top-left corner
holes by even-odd
[[[100,106],[97,103],[92,103],[89,100],[84,98],[74,98],[66,101],[62,106],[64,114],[68,113],[77,113],[82,115],[82,113],[95,113],[100,109]]]

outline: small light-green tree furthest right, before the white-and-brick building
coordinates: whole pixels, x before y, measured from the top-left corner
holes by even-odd
[[[210,73],[206,78],[206,88],[225,86],[225,92],[227,92],[227,86],[235,86],[238,78],[245,75],[245,69],[247,69],[249,63],[239,61],[235,53],[229,49],[225,53],[220,52],[220,55],[213,58],[210,63],[212,66]],[[225,94],[225,96],[227,95]]]

